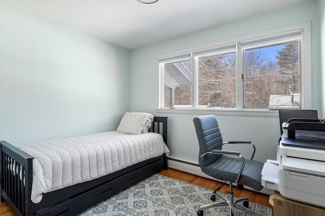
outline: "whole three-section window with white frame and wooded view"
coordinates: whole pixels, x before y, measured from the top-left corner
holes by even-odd
[[[158,109],[310,109],[310,45],[306,22],[158,58]]]

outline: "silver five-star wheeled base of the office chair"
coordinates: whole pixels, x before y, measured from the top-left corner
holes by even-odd
[[[257,215],[254,211],[250,210],[248,207],[248,198],[247,197],[241,197],[241,198],[236,198],[234,199],[234,193],[233,193],[233,185],[232,183],[229,183],[229,194],[228,194],[228,199],[221,196],[220,194],[214,193],[213,195],[220,197],[223,199],[223,202],[214,202],[214,203],[209,203],[206,205],[200,206],[200,209],[198,210],[198,216],[203,216],[203,211],[208,208],[212,207],[217,207],[217,206],[228,206],[229,207],[229,215],[234,216],[234,209],[238,208],[240,210],[246,211],[248,213],[251,213],[253,215]],[[244,202],[243,205],[241,206],[238,203]]]

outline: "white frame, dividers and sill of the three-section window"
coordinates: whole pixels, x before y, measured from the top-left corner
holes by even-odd
[[[311,109],[311,23],[304,22],[296,25],[291,25],[287,27],[281,27],[277,29],[272,29],[268,31],[263,31],[251,35],[246,35],[245,37],[235,38],[227,41],[222,41],[218,43],[208,44],[205,46],[190,48],[174,53],[169,53],[165,55],[159,55],[156,58],[157,68],[158,68],[158,79],[159,85],[157,86],[157,95],[156,95],[156,112],[157,113],[177,113],[177,114],[200,114],[200,115],[228,115],[228,116],[263,116],[263,117],[277,117],[278,112],[277,110],[267,109],[267,108],[245,108],[244,107],[244,82],[242,80],[242,76],[244,76],[244,49],[241,45],[243,42],[246,41],[254,41],[261,38],[268,38],[272,37],[272,35],[281,35],[285,34],[286,32],[290,31],[299,31],[301,30],[301,44],[300,44],[300,97],[301,97],[301,108],[300,109]],[[276,42],[274,42],[276,43]],[[237,107],[236,108],[226,108],[226,109],[211,109],[205,107],[199,107],[199,79],[198,79],[198,61],[199,57],[212,55],[209,53],[209,50],[218,49],[219,53],[227,52],[226,50],[222,50],[222,47],[229,47],[230,45],[236,45],[236,94],[237,94]],[[270,42],[270,44],[272,44]],[[202,55],[196,55],[196,53],[204,53]],[[229,51],[228,51],[229,52]],[[218,53],[218,52],[215,52]],[[162,94],[161,88],[164,85],[164,73],[160,70],[160,60],[166,58],[172,58],[173,56],[181,56],[184,54],[190,54],[190,59],[192,61],[191,64],[191,107],[177,107],[176,109],[170,109],[169,107],[162,107],[161,106],[161,97],[164,95]],[[197,67],[197,68],[196,68]],[[309,72],[310,71],[310,72]],[[296,109],[296,108],[294,108]]]

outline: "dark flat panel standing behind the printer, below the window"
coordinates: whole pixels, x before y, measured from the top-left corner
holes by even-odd
[[[282,124],[289,119],[318,119],[317,110],[289,110],[279,109],[280,131],[283,134]]]

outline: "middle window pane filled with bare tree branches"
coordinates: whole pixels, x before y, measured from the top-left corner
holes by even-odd
[[[199,58],[199,106],[236,108],[236,53]]]

